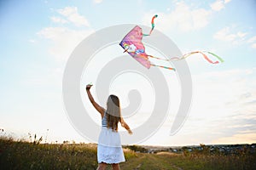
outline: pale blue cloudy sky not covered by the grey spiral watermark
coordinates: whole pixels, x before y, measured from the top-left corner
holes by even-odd
[[[28,139],[28,133],[37,133],[47,142],[88,142],[75,130],[64,109],[62,77],[67,59],[93,32],[121,24],[150,26],[152,16],[158,14],[155,29],[170,37],[183,54],[208,50],[221,56],[224,63],[210,65],[200,55],[187,59],[193,100],[186,122],[172,136],[168,132],[172,127],[171,112],[177,111],[179,105],[179,82],[174,73],[163,71],[168,85],[172,84],[170,114],[160,129],[141,144],[255,143],[255,8],[254,0],[1,1],[0,128],[4,132],[0,135]],[[96,81],[101,67],[95,65],[108,62],[108,58],[102,61],[103,54],[122,53],[115,48],[102,49],[102,54],[91,60],[91,74],[81,79],[84,84]],[[124,106],[129,105],[127,91],[137,88],[142,93],[141,114],[127,120],[132,129],[150,116],[154,100],[149,99],[154,92],[143,77],[133,73],[126,77],[137,77],[137,82],[127,84],[125,77],[118,77],[110,91],[119,94]],[[88,102],[85,94],[81,95]],[[96,111],[90,106],[86,109],[99,123]]]

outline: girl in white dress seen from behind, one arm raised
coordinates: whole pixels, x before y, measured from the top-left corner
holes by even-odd
[[[130,127],[121,117],[119,98],[115,95],[109,95],[107,101],[107,110],[98,105],[90,94],[91,84],[86,86],[86,92],[91,104],[96,108],[102,116],[102,132],[99,136],[97,146],[98,170],[105,169],[111,164],[113,169],[119,169],[119,162],[125,161],[124,152],[120,142],[118,133],[118,123],[132,134]]]

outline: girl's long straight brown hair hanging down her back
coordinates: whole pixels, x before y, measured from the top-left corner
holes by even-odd
[[[107,101],[107,127],[118,130],[118,123],[121,119],[119,98],[116,95],[109,95]]]

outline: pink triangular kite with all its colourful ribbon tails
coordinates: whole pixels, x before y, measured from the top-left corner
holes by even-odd
[[[128,32],[128,34],[125,35],[123,40],[119,43],[119,45],[125,49],[124,53],[127,52],[128,54],[131,55],[133,59],[136,59],[140,64],[145,66],[146,68],[150,68],[150,66],[157,66],[160,68],[165,68],[168,70],[175,71],[175,68],[172,67],[167,67],[163,65],[154,65],[153,63],[150,62],[148,59],[154,58],[154,59],[161,59],[158,57],[154,57],[152,55],[146,54],[145,52],[145,47],[143,45],[143,37],[145,36],[150,36],[152,31],[154,30],[154,19],[157,18],[157,14],[154,15],[154,17],[151,20],[151,30],[149,31],[148,34],[143,34],[143,29],[140,26],[135,26],[131,31]],[[190,52],[189,54],[183,54],[181,57],[172,57],[170,59],[161,59],[161,60],[166,60],[166,61],[177,61],[181,59],[186,59],[192,54],[201,54],[207,61],[211,64],[218,64],[220,62],[224,62],[223,59],[221,59],[218,55],[213,54],[212,52],[208,51],[194,51]],[[218,60],[217,61],[212,61],[207,57],[207,54],[212,54],[212,56],[216,57]]]

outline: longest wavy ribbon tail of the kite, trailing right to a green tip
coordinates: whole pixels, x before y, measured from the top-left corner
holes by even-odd
[[[183,56],[181,57],[172,57],[171,59],[161,59],[161,58],[158,58],[158,57],[154,57],[152,55],[148,55],[148,57],[151,57],[151,58],[154,58],[154,59],[161,59],[161,60],[165,60],[165,61],[177,61],[177,60],[181,60],[181,59],[186,59],[188,58],[190,55],[192,54],[202,54],[202,56],[207,59],[207,61],[211,64],[218,64],[219,62],[218,61],[212,61],[211,59],[209,59],[207,57],[206,54],[204,53],[208,53],[208,54],[212,54],[212,56],[216,57],[220,62],[224,62],[224,59],[221,59],[218,55],[216,54],[213,54],[212,52],[208,52],[208,51],[204,51],[204,52],[201,52],[201,51],[194,51],[194,52],[190,52],[189,54],[183,54]]]

